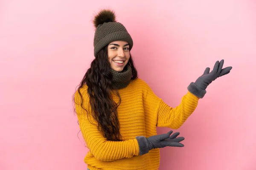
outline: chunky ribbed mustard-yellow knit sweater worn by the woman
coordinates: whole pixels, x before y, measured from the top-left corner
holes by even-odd
[[[127,87],[119,89],[122,102],[117,111],[120,133],[125,141],[113,142],[102,136],[91,116],[87,85],[80,91],[88,117],[80,105],[76,105],[76,112],[81,133],[89,149],[84,162],[90,170],[157,170],[160,150],[153,149],[139,156],[139,145],[135,137],[157,135],[156,127],[178,129],[198,105],[198,97],[188,91],[180,105],[171,108],[142,79],[132,80]],[[115,102],[119,101],[115,95],[113,99]],[[75,100],[76,103],[81,103],[78,91]]]

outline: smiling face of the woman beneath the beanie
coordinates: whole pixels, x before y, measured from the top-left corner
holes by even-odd
[[[108,44],[110,67],[121,72],[130,59],[129,44],[125,41],[113,41]]]

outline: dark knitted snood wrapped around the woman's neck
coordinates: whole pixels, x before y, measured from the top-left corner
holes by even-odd
[[[111,69],[111,74],[113,76],[113,88],[125,88],[131,81],[131,66],[127,64],[121,72]]]

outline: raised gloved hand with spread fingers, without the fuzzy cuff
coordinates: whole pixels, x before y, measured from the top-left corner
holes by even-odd
[[[201,90],[205,90],[212,81],[214,81],[218,77],[230,73],[232,67],[226,67],[222,69],[223,64],[224,59],[222,59],[220,62],[216,61],[213,70],[210,73],[210,68],[207,67],[204,71],[204,74],[198,77],[198,79],[195,81],[195,85],[197,85]]]

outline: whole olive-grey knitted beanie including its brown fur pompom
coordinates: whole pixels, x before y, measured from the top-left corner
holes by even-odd
[[[103,9],[94,17],[93,24],[96,27],[93,40],[94,57],[102,48],[113,41],[126,41],[131,50],[133,40],[125,26],[116,22],[114,11]]]

